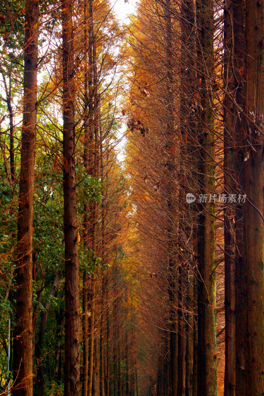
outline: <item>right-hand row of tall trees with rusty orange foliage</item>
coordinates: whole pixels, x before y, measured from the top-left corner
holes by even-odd
[[[150,393],[263,393],[263,24],[254,1],[141,1],[132,18],[126,160],[152,282]]]

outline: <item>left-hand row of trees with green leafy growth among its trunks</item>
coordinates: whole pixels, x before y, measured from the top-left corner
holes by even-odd
[[[3,395],[135,394],[123,35],[107,1],[0,5]]]

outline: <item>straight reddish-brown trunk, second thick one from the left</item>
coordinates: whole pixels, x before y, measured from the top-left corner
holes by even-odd
[[[79,264],[75,191],[74,52],[71,0],[61,1],[63,65],[63,196],[65,241],[64,396],[80,392]]]

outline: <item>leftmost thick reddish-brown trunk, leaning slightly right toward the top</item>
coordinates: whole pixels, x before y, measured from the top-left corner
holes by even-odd
[[[13,342],[14,394],[33,393],[32,236],[37,122],[38,0],[26,1],[24,45],[24,100],[21,133],[18,243],[16,261],[16,327]]]

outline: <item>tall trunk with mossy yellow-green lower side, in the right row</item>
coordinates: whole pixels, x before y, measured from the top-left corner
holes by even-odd
[[[198,77],[201,81],[201,114],[199,120],[200,158],[198,162],[200,204],[198,225],[198,396],[216,396],[216,284],[214,203],[214,114],[212,100],[213,0],[197,3]],[[206,202],[205,202],[206,200]]]

